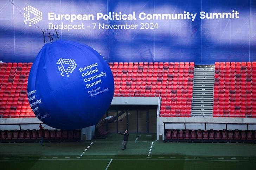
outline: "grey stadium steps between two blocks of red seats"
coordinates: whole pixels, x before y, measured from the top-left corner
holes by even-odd
[[[195,66],[191,116],[212,116],[214,66]]]

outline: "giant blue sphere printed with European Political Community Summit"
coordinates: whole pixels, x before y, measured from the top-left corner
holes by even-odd
[[[33,62],[28,101],[43,123],[57,129],[95,125],[108,110],[114,79],[93,48],[58,40],[45,44]]]

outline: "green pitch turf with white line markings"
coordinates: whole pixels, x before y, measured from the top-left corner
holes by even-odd
[[[119,134],[44,146],[0,143],[0,169],[256,169],[256,144],[162,143],[155,138],[155,134],[130,134],[127,150],[121,150]]]

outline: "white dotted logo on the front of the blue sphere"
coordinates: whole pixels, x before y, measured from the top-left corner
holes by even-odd
[[[66,75],[67,77],[69,77],[68,74],[72,73],[77,66],[75,60],[73,59],[59,59],[56,64],[59,65],[58,69],[61,72],[60,75]],[[65,68],[64,64],[69,64],[68,68]]]

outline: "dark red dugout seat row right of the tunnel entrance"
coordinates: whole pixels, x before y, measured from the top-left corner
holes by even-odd
[[[179,130],[176,129],[167,129],[165,139],[168,140],[223,140],[223,141],[252,141],[256,140],[256,131],[252,133],[252,131],[248,130],[247,132],[245,130],[239,131],[239,130],[229,130],[228,132],[223,129],[222,131],[216,130],[214,131],[211,129],[210,131],[204,130],[201,131],[198,129],[197,131],[188,129],[185,130]]]

